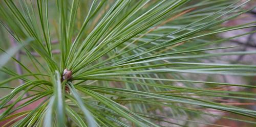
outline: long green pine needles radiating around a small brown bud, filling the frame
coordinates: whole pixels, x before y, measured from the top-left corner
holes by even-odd
[[[1,39],[1,45],[10,35],[18,46],[1,48],[1,72],[9,79],[0,82],[0,90],[12,91],[1,95],[0,122],[15,118],[5,126],[221,126],[208,119],[224,118],[253,126],[256,111],[216,101],[256,100],[255,93],[216,89],[256,87],[216,79],[217,75],[256,76],[255,65],[219,60],[256,52],[222,52],[236,45],[217,46],[255,32],[216,36],[256,27],[255,22],[222,26],[247,12],[241,9],[247,3],[1,1],[1,32],[7,38]],[[19,49],[25,60],[13,57]],[[216,50],[221,52],[209,53]],[[24,72],[8,68],[9,59]],[[215,79],[200,81],[198,77]],[[9,86],[18,79],[23,82]],[[39,105],[19,111],[35,101]],[[237,114],[241,119],[207,112],[209,109]]]

